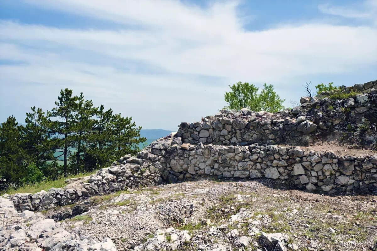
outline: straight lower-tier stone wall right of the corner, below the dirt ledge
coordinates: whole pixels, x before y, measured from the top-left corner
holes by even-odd
[[[170,158],[172,171],[184,173],[185,178],[266,177],[309,191],[377,191],[377,154],[337,156],[331,151],[303,150],[299,146],[254,144],[178,149]]]

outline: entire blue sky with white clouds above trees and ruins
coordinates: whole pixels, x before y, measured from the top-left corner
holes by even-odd
[[[377,79],[377,0],[2,0],[0,121],[61,89],[176,131],[236,82],[298,101],[305,82]]]

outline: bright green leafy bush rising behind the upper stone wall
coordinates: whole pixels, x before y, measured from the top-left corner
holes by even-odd
[[[260,94],[257,93],[259,88],[249,83],[238,82],[229,87],[231,91],[224,95],[228,109],[248,108],[252,111],[277,112],[284,108],[285,99],[280,99],[271,84],[265,83]]]

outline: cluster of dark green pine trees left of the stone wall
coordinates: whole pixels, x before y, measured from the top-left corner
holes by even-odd
[[[0,179],[18,186],[38,183],[43,177],[91,172],[126,154],[136,154],[146,142],[132,117],[113,115],[103,105],[93,107],[83,93],[60,91],[55,107],[46,114],[32,107],[26,126],[12,116],[0,128]],[[63,159],[63,168],[57,161]]]

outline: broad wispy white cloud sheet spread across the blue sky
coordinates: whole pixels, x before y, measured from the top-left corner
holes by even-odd
[[[307,22],[247,31],[238,2],[208,8],[167,0],[27,2],[110,20],[124,28],[62,29],[0,22],[0,60],[24,62],[0,65],[0,80],[15,86],[42,84],[53,96],[46,98],[49,104],[59,89],[69,86],[116,112],[132,115],[147,128],[174,128],[181,121],[215,113],[224,106],[227,85],[237,81],[272,83],[283,98],[295,100],[301,94],[297,86],[313,76],[357,74],[358,69],[376,64],[374,26]],[[339,9],[331,11],[339,14]],[[88,55],[103,60],[94,63]],[[19,91],[35,93],[32,87]],[[24,100],[30,102],[26,107],[35,105],[35,95]]]

